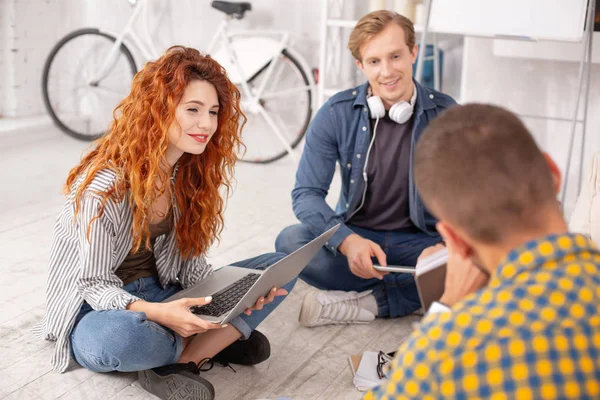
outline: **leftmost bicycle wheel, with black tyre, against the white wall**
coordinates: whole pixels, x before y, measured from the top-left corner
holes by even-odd
[[[58,42],[46,60],[44,104],[56,125],[74,138],[104,135],[113,110],[129,93],[137,68],[124,44],[103,76],[96,76],[115,41],[98,29],[80,29]]]

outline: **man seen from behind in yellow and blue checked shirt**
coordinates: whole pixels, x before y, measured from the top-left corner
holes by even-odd
[[[600,252],[567,233],[560,172],[523,123],[453,108],[423,133],[414,171],[448,248],[451,312],[421,322],[366,399],[600,398]],[[491,277],[482,289],[477,274]]]

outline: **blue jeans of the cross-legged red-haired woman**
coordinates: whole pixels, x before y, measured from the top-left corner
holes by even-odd
[[[232,265],[265,269],[283,258],[284,254],[270,253],[233,263]],[[288,293],[296,279],[283,286]],[[162,288],[156,277],[140,278],[124,286],[126,291],[149,302],[160,302],[181,290],[181,286]],[[275,297],[252,315],[241,314],[230,324],[247,339],[252,331],[285,298]],[[75,360],[95,372],[141,371],[174,364],[183,352],[183,339],[171,329],[149,321],[143,312],[128,310],[93,310],[84,303],[71,331],[71,347]]]

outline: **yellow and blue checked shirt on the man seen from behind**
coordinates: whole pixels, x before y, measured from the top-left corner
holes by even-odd
[[[600,252],[582,235],[527,243],[397,354],[365,399],[600,398]]]

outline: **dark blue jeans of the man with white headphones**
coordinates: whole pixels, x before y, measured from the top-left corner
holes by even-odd
[[[372,240],[383,249],[390,265],[414,266],[423,249],[441,241],[417,228],[397,231],[374,231],[348,225],[352,231],[365,239]],[[290,254],[316,237],[304,224],[285,228],[275,241],[278,252]],[[350,271],[348,259],[341,253],[334,255],[322,248],[306,268],[300,279],[323,290],[373,290],[381,317],[401,317],[421,306],[415,280],[411,274],[389,273],[383,281],[363,279]]]

